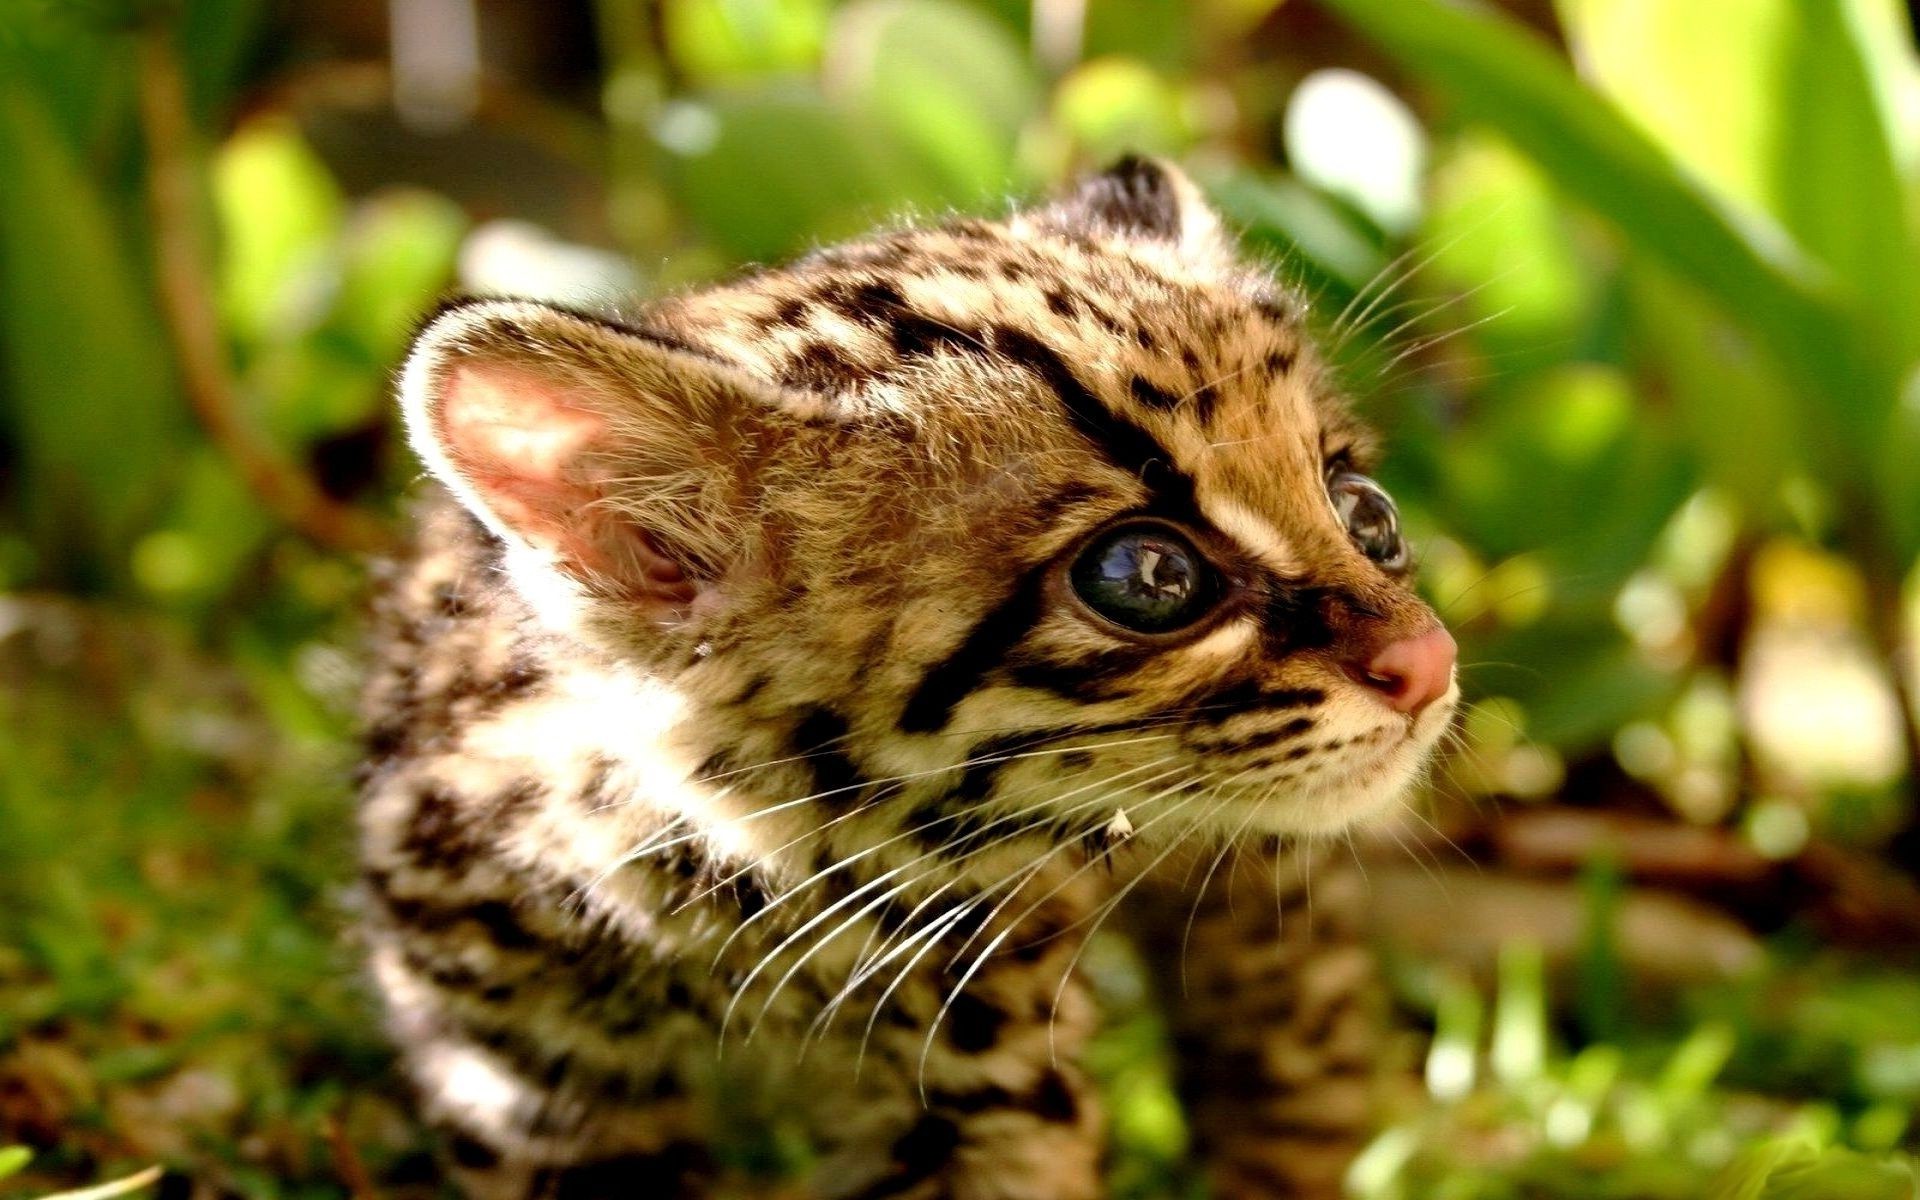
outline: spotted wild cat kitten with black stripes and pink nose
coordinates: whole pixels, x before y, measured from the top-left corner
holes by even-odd
[[[440,486],[380,611],[367,937],[470,1194],[768,1194],[716,1146],[778,1125],[820,1196],[1096,1196],[1108,916],[1185,954],[1213,1194],[1336,1187],[1367,958],[1336,885],[1281,920],[1277,856],[1398,801],[1453,643],[1179,173],[630,321],[459,301],[399,392]]]

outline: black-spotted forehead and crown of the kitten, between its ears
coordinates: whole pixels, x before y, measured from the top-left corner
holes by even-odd
[[[662,317],[787,388],[958,440],[1052,426],[1254,511],[1296,503],[1357,440],[1292,296],[1152,238],[960,221],[835,246]]]

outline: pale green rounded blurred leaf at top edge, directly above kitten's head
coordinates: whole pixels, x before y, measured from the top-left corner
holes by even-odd
[[[828,96],[885,129],[948,204],[1006,188],[1041,88],[1004,25],[947,0],[858,0],[828,44]]]

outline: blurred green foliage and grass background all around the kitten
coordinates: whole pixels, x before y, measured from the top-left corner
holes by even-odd
[[[438,1192],[344,937],[438,294],[657,294],[1127,150],[1311,298],[1463,643],[1457,753],[1354,847],[1405,1085],[1352,1194],[1910,1200],[1893,0],[6,0],[0,1192]],[[1096,972],[1116,1194],[1204,1196]]]

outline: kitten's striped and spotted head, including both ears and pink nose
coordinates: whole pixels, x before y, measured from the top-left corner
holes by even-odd
[[[540,620],[768,803],[1325,831],[1455,703],[1298,301],[1160,163],[624,321],[455,303],[401,397]]]

